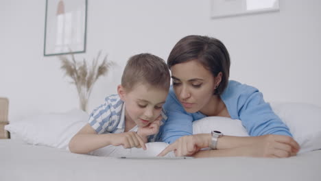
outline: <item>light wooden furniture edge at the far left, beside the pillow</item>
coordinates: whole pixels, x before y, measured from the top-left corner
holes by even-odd
[[[9,138],[9,132],[4,129],[8,124],[8,108],[9,100],[5,97],[0,97],[0,138]]]

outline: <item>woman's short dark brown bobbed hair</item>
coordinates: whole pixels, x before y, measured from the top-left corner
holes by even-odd
[[[185,36],[169,53],[167,66],[171,69],[175,64],[191,60],[200,62],[205,69],[211,71],[214,77],[222,72],[222,81],[214,94],[223,93],[230,75],[230,56],[224,44],[209,36]]]

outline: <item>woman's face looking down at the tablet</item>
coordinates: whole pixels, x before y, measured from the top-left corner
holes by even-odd
[[[187,112],[206,108],[220,79],[213,77],[198,61],[191,60],[171,67],[171,78],[176,97]]]

